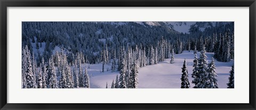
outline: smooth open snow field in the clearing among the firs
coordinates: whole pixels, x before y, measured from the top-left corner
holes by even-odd
[[[200,53],[197,52],[199,57]],[[206,53],[207,61],[211,62],[214,53]],[[149,65],[139,69],[139,88],[180,88],[181,84],[181,68],[183,61],[186,58],[187,68],[189,74],[190,88],[194,87],[192,84],[193,78],[191,78],[193,70],[193,51],[183,51],[181,54],[174,55],[174,63],[170,63],[170,59],[165,59],[164,62],[159,62],[157,65]],[[230,62],[219,62],[215,60],[218,87],[227,88],[229,71],[233,65],[234,60]],[[85,65],[83,65],[83,68]],[[105,72],[100,72],[102,69],[102,63],[96,65],[86,64],[87,71],[90,76],[91,88],[108,88],[111,87],[112,81],[116,79],[116,75],[119,77],[119,71],[111,72],[111,65],[106,65],[105,68],[109,68],[109,71],[105,69]],[[84,69],[83,69],[84,70]]]

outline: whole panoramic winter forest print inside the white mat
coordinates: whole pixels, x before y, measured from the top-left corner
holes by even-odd
[[[22,22],[21,88],[234,88],[234,22]]]

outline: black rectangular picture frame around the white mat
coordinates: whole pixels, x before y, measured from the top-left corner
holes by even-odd
[[[1,109],[256,109],[255,0],[0,0],[0,108]],[[7,7],[250,7],[250,103],[249,104],[13,104],[7,101]],[[239,95],[239,94],[238,94]]]

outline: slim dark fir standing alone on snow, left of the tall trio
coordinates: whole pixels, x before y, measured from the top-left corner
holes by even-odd
[[[188,81],[188,69],[186,67],[186,59],[184,60],[182,69],[182,75],[181,75],[181,87],[180,88],[189,88],[189,81]]]

